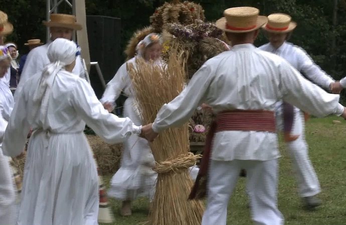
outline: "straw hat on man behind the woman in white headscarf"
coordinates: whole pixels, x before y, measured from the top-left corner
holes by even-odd
[[[82,24],[76,22],[76,16],[69,14],[55,14],[50,15],[50,21],[43,21],[43,24],[50,27],[63,27],[74,30],[81,30]]]

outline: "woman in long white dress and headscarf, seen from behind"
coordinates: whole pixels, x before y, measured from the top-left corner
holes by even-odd
[[[71,73],[79,54],[73,41],[55,39],[51,63],[26,82],[7,126],[9,156],[21,153],[33,128],[18,225],[97,225],[98,177],[85,123],[108,143],[141,132],[129,118],[108,113],[87,81]]]

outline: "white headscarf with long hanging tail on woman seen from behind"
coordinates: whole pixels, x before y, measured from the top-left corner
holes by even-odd
[[[55,77],[60,72],[64,72],[65,65],[69,65],[76,60],[77,56],[80,55],[80,47],[72,40],[57,38],[49,44],[47,55],[51,63],[43,69],[39,87],[35,90],[33,96],[34,103],[41,104],[40,116],[42,116],[43,124],[47,119],[50,88]]]

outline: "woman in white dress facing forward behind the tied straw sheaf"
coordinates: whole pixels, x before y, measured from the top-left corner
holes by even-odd
[[[162,37],[156,33],[146,35],[137,44],[136,56],[122,64],[107,83],[107,88],[100,99],[106,109],[109,111],[114,109],[114,102],[123,91],[127,96],[124,102],[124,116],[132,119],[134,124],[142,125],[126,64],[135,65],[136,57],[143,57],[148,63],[163,66],[164,62],[160,58],[162,50]],[[137,196],[147,196],[149,202],[152,202],[157,177],[157,173],[151,169],[153,165],[155,160],[147,140],[131,136],[124,142],[120,168],[112,177],[108,190],[109,196],[122,200],[121,215],[132,214],[131,201]],[[190,171],[193,178],[196,178],[198,168],[193,167]]]

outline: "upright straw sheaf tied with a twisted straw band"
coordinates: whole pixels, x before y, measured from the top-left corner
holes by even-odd
[[[154,66],[136,60],[136,69],[128,64],[136,100],[143,122],[153,122],[164,103],[174,99],[184,88],[186,74],[183,54],[177,48],[170,50],[166,67]],[[189,153],[188,123],[179,128],[168,128],[150,143],[158,172],[156,191],[149,223],[152,225],[201,224],[204,212],[202,201],[188,201],[193,181],[189,167],[198,156]]]

